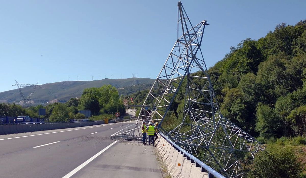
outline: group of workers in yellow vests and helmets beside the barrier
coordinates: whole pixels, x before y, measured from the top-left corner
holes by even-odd
[[[154,126],[152,126],[152,122],[149,122],[149,126],[146,126],[146,121],[142,121],[142,127],[141,127],[141,132],[142,132],[142,143],[144,145],[147,145],[146,139],[147,139],[147,134],[149,136],[149,146],[151,146],[151,140],[152,140],[152,145],[155,147],[154,142],[158,138],[157,133],[158,133],[158,122],[155,123]],[[154,138],[155,137],[155,138]]]

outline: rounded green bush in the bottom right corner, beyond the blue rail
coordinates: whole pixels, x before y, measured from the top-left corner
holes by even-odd
[[[268,146],[255,157],[250,178],[299,178],[301,164],[290,147]]]

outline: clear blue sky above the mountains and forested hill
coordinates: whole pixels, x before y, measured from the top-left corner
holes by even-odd
[[[183,0],[205,28],[202,50],[213,66],[245,38],[306,19],[306,1]],[[176,40],[177,1],[0,0],[0,92],[19,83],[156,78]]]

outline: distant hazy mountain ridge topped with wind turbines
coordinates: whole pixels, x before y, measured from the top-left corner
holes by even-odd
[[[52,102],[52,100],[65,102],[72,97],[80,97],[85,88],[101,87],[103,85],[112,85],[118,89],[119,95],[129,94],[139,90],[149,88],[155,79],[151,78],[123,78],[123,79],[109,79],[94,81],[65,81],[46,83],[40,85],[41,88],[36,88],[32,96],[32,100],[36,104],[44,104]],[[33,88],[25,87],[21,91],[24,96],[28,96]],[[18,89],[13,89],[0,93],[0,103],[18,103],[22,101]]]

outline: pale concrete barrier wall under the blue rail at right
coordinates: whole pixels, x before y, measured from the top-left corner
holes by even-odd
[[[208,173],[202,172],[200,167],[196,167],[195,163],[187,160],[187,157],[184,157],[162,136],[159,136],[156,141],[162,161],[173,178],[208,178]]]

